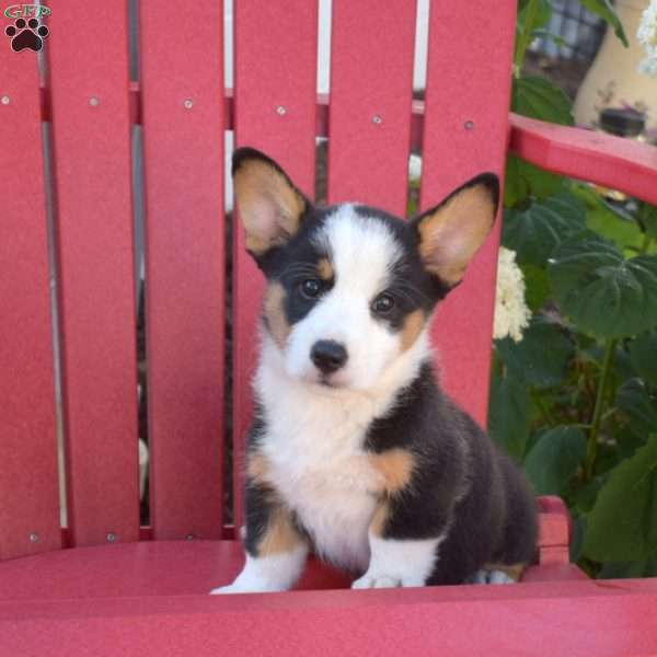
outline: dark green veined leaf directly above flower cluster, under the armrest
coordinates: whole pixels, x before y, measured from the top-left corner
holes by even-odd
[[[585,220],[586,209],[579,198],[562,192],[532,203],[525,211],[508,209],[503,244],[517,253],[519,264],[544,267],[558,244],[584,230]]]

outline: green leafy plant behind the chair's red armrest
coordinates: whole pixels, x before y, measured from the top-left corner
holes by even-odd
[[[609,0],[580,0],[626,44]],[[527,77],[549,0],[519,0],[512,111],[573,125],[569,99]],[[575,519],[572,556],[598,577],[657,575],[657,209],[511,155],[503,244],[533,316],[494,343],[489,429],[540,495]]]

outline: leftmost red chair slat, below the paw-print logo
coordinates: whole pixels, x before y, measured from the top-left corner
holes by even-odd
[[[53,550],[61,541],[38,76],[35,56],[3,45],[0,560]]]

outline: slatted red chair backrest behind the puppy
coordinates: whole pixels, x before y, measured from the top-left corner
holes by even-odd
[[[516,0],[431,0],[424,103],[412,101],[416,3],[408,0],[333,0],[327,99],[316,94],[314,0],[234,3],[232,93],[224,92],[217,0],[141,0],[138,84],[129,78],[125,0],[49,8],[41,84],[32,53],[0,48],[0,558],[62,545],[59,415],[64,542],[140,537],[135,125],[143,138],[151,533],[227,537],[224,460],[237,473],[239,522],[262,279],[240,230],[224,243],[226,131],[277,159],[311,197],[315,138],[327,137],[328,200],[402,216],[412,145],[423,152],[422,207],[479,172],[502,175]],[[46,158],[44,129],[53,143]],[[481,424],[498,234],[499,223],[435,321],[443,384]],[[223,445],[227,327],[232,453]]]

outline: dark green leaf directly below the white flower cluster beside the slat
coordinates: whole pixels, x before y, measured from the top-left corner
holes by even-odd
[[[539,388],[558,385],[575,351],[566,332],[540,315],[532,319],[520,342],[507,337],[497,341],[495,348],[515,377]]]

